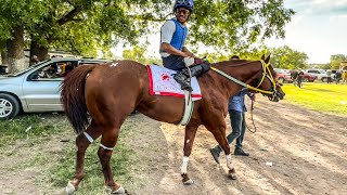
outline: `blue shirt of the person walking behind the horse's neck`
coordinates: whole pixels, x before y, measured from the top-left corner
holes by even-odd
[[[249,98],[253,95],[250,92],[248,92],[247,88],[243,88],[239,93],[229,99],[228,109],[242,113],[247,112],[245,106],[245,94],[247,94]]]

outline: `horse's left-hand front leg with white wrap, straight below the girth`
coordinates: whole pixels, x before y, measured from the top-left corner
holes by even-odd
[[[197,127],[198,126],[190,126],[190,125],[185,127],[184,147],[183,147],[184,156],[183,156],[183,162],[181,166],[182,182],[184,185],[190,185],[193,183],[193,181],[187,174],[187,167],[189,162],[189,156],[191,155],[191,152],[192,152]]]

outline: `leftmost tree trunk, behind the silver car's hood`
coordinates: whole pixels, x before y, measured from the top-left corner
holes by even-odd
[[[17,26],[12,30],[12,39],[7,40],[9,54],[9,73],[26,68],[24,57],[24,28]]]

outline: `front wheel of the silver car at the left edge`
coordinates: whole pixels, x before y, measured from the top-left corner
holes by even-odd
[[[0,93],[0,119],[13,118],[20,113],[20,103],[14,96]]]

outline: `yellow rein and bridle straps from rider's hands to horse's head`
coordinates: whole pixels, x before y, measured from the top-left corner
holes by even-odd
[[[244,88],[252,89],[254,91],[258,91],[258,92],[264,93],[264,94],[273,94],[273,93],[275,93],[275,81],[274,81],[274,79],[272,77],[272,74],[267,74],[267,70],[269,73],[271,73],[270,69],[269,69],[269,64],[266,64],[262,60],[260,60],[260,63],[261,63],[261,66],[262,66],[262,77],[261,77],[260,82],[259,82],[259,84],[257,87],[253,87],[253,86],[249,86],[249,84],[247,84],[247,83],[245,83],[245,82],[243,82],[241,80],[237,80],[237,79],[231,77],[230,75],[223,73],[222,70],[217,69],[216,67],[210,67],[210,69],[217,72],[218,74],[222,75],[223,77],[228,78],[229,80],[231,80],[231,81],[233,81],[233,82],[235,82],[235,83],[237,83],[237,84],[240,84],[240,86],[242,86]],[[272,87],[273,87],[272,88],[273,91],[266,91],[266,90],[258,89],[261,86],[261,83],[264,82],[265,77],[268,77],[268,79],[271,81]]]

